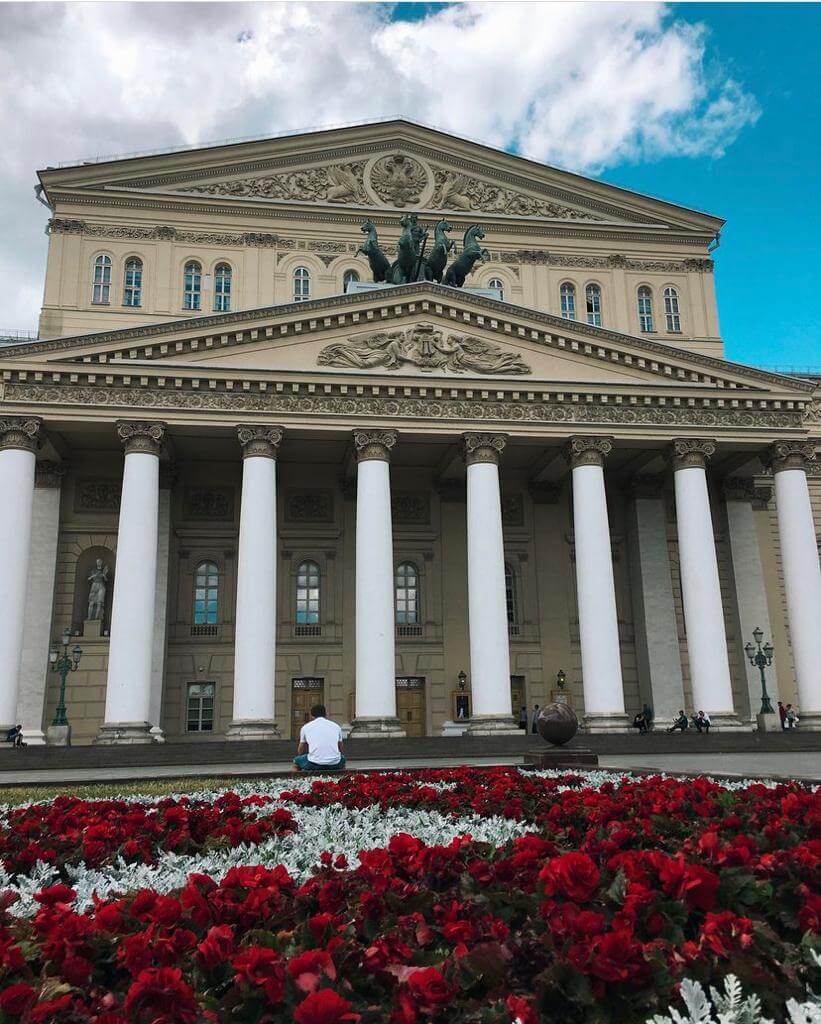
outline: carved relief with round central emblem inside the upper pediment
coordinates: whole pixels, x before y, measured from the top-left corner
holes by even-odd
[[[527,195],[467,172],[392,153],[343,164],[309,167],[256,177],[186,185],[185,193],[243,199],[510,214],[567,220],[600,217],[546,198]]]

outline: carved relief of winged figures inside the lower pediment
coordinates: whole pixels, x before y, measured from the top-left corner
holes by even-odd
[[[516,352],[508,352],[471,335],[450,334],[432,324],[396,331],[377,331],[327,345],[317,355],[320,367],[348,370],[401,370],[423,373],[530,374]]]

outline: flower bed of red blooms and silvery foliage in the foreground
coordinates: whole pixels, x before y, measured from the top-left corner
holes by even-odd
[[[260,827],[288,810],[291,830],[231,845],[217,815],[223,848],[153,841],[154,862],[128,868],[141,876],[118,876],[109,847],[80,864],[82,837],[50,866],[19,862],[0,898],[0,1021],[631,1022],[683,978],[730,972],[775,1019],[804,996],[821,841],[801,785],[501,768],[239,788],[211,806]],[[123,801],[121,821],[164,803]],[[51,806],[6,812],[3,849]],[[93,897],[106,872],[123,893]],[[38,880],[56,884],[32,899]]]

